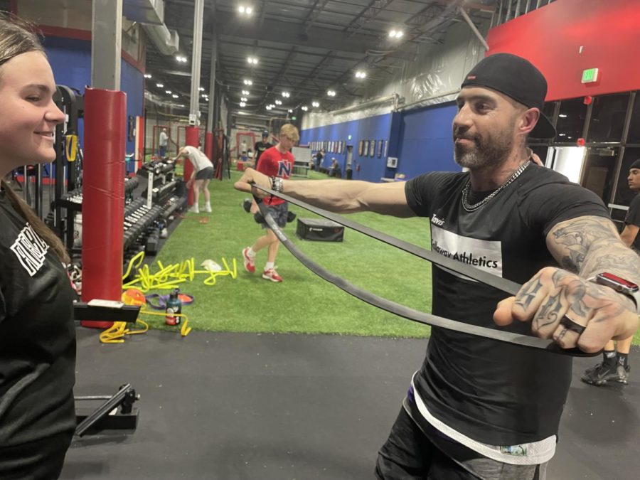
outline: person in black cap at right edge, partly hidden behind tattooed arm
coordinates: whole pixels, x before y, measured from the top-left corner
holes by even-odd
[[[629,167],[629,175],[626,177],[629,189],[633,192],[640,192],[640,159],[634,161]],[[634,196],[629,205],[629,211],[624,217],[624,228],[620,233],[620,238],[625,245],[631,247],[638,255],[640,255],[640,195]],[[634,337],[630,336],[624,340],[617,342],[609,341],[604,346],[602,352],[602,363],[587,368],[581,380],[591,385],[604,385],[609,382],[617,382],[626,385],[629,383],[629,351],[631,350],[631,341]]]

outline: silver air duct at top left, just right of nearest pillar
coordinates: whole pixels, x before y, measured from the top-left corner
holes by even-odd
[[[178,32],[164,24],[164,0],[124,0],[122,14],[142,23],[146,35],[163,55],[174,55],[180,48]]]

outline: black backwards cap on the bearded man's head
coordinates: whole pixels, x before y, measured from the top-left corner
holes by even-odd
[[[462,82],[462,88],[474,86],[491,88],[513,98],[525,107],[538,108],[540,118],[531,130],[530,136],[555,137],[555,127],[543,114],[547,80],[530,61],[511,53],[489,55],[480,60]]]

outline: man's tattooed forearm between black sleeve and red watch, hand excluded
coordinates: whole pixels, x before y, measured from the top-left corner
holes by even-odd
[[[640,283],[640,257],[624,245],[607,218],[588,216],[558,223],[547,235],[547,247],[560,267],[580,277],[612,272]]]

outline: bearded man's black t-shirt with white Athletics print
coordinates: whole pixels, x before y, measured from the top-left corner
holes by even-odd
[[[609,216],[594,193],[533,164],[469,213],[462,207],[468,178],[466,173],[413,178],[405,186],[407,203],[430,218],[433,251],[514,282],[556,265],[545,244],[555,224],[582,215]],[[472,204],[486,196],[471,193]],[[530,335],[528,323],[494,324],[496,304],[508,297],[504,292],[435,265],[432,272],[433,314]],[[570,380],[567,356],[434,327],[414,383],[427,409],[449,427],[478,442],[513,445],[557,434]]]

